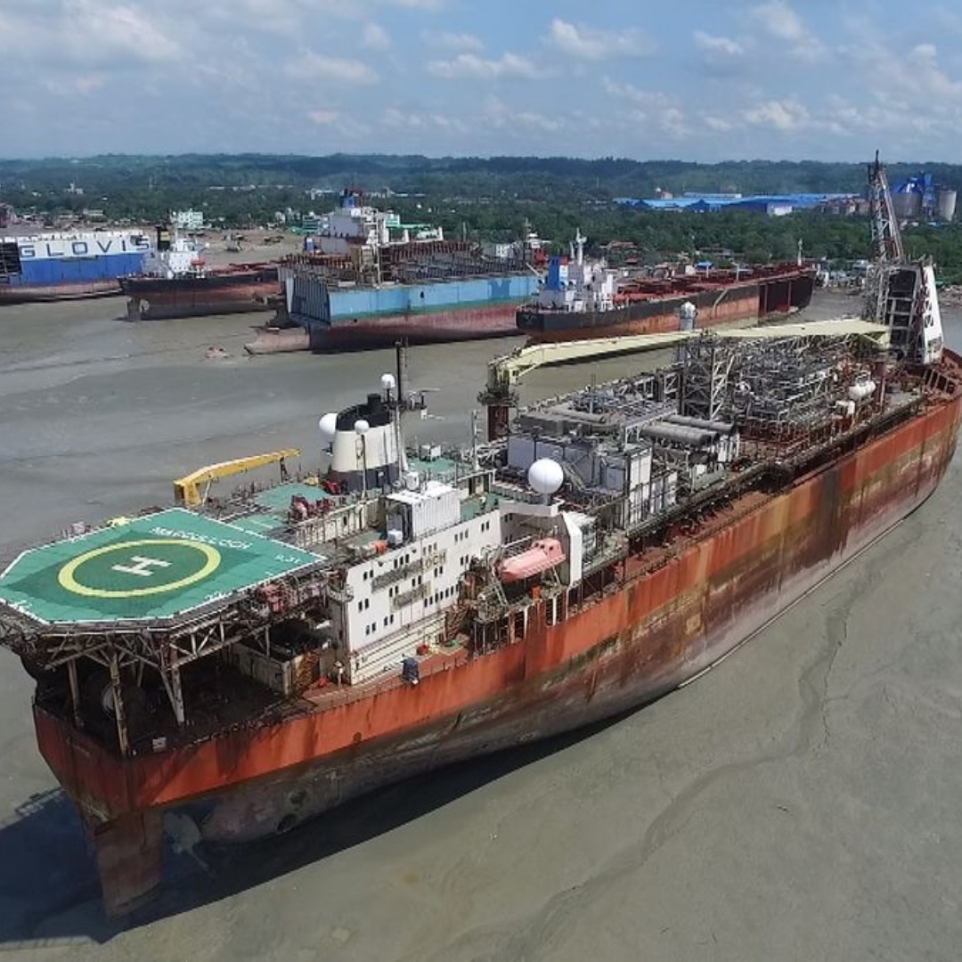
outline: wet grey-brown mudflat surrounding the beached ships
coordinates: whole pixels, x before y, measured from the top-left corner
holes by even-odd
[[[825,300],[809,316],[851,310]],[[249,320],[130,325],[122,299],[0,314],[0,550],[169,499],[200,464],[289,443],[392,352],[247,359]],[[962,346],[952,313],[949,343]],[[468,443],[487,360],[414,348]],[[224,346],[226,362],[204,359]],[[532,374],[550,394],[617,359]],[[415,433],[414,431],[409,432]],[[314,452],[314,453],[307,453]],[[0,652],[0,949],[12,959],[954,959],[962,945],[959,459],[924,508],[695,684],[545,746],[417,779],[270,844],[171,857],[100,918],[79,825]]]

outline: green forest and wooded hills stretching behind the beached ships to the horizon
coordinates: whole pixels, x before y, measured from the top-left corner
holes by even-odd
[[[889,179],[928,173],[962,190],[962,165],[890,164]],[[111,222],[165,221],[172,210],[203,210],[224,230],[272,222],[278,213],[321,214],[347,185],[389,193],[374,203],[407,221],[443,226],[449,236],[510,241],[530,228],[558,247],[577,229],[591,247],[634,244],[640,259],[707,252],[755,263],[805,257],[846,261],[871,255],[865,217],[806,212],[766,217],[744,211],[710,214],[639,211],[619,197],[650,197],[657,190],[787,193],[862,193],[866,166],[815,162],[639,162],[617,158],[426,158],[346,155],[105,155],[84,159],[0,161],[0,201],[38,218],[102,211]],[[70,190],[71,185],[73,189]],[[82,190],[82,193],[77,192]],[[943,280],[962,282],[962,227],[913,225],[905,231],[913,256],[930,255]]]

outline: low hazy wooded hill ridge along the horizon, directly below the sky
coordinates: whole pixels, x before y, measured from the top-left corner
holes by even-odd
[[[868,158],[866,159],[869,160]],[[962,165],[890,163],[893,182],[921,171],[938,183],[962,189]],[[0,196],[24,192],[50,195],[70,184],[85,196],[129,190],[205,190],[267,188],[340,190],[349,183],[367,190],[402,193],[469,194],[550,199],[566,190],[604,199],[672,193],[860,192],[865,165],[814,161],[739,161],[694,164],[687,161],[632,161],[620,158],[577,160],[566,157],[442,157],[331,154],[302,157],[276,154],[185,154],[167,157],[106,154],[82,159],[0,161]],[[16,196],[14,196],[16,195]]]

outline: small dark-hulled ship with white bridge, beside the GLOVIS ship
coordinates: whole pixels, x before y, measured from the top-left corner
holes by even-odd
[[[160,320],[268,311],[280,291],[276,264],[208,266],[204,244],[157,229],[142,267],[120,278],[128,320]]]

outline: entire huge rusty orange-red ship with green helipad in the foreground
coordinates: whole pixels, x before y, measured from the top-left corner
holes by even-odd
[[[292,450],[203,468],[176,507],[19,555],[0,641],[37,679],[108,913],[157,890],[165,832],[283,833],[670,692],[915,510],[955,450],[962,359],[931,266],[874,278],[873,320],[683,332],[674,364],[464,452],[407,452],[420,402],[385,374],[320,419],[310,477]],[[511,403],[516,361],[486,402]],[[210,490],[274,462],[276,484]]]

